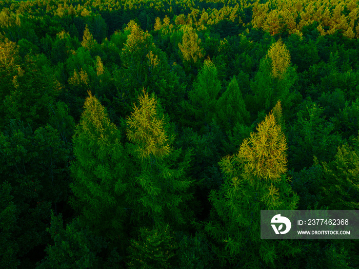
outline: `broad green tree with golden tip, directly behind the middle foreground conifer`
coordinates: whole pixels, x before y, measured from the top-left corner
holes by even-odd
[[[130,113],[142,88],[156,93],[166,109],[176,112],[177,99],[184,95],[184,87],[170,71],[166,54],[154,45],[148,31],[144,32],[134,21],[130,21],[124,31],[130,34],[122,48],[122,65],[113,73],[118,113],[123,117]]]

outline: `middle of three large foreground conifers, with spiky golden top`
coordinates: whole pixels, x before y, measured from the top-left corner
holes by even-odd
[[[161,104],[149,98],[143,89],[139,107],[127,117],[127,138],[130,154],[135,158],[136,175],[132,182],[135,191],[134,213],[137,220],[148,218],[150,223],[183,224],[191,217],[184,212],[185,202],[191,199],[188,193],[191,180],[186,176],[190,152],[183,161],[177,161],[181,149],[174,149],[168,116]]]

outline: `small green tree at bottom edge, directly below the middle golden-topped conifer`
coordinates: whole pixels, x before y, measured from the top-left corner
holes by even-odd
[[[140,228],[138,240],[131,239],[128,248],[128,268],[173,268],[178,248],[174,232],[169,225],[158,228]]]

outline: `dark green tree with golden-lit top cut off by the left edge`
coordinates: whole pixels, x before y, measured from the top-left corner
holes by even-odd
[[[37,128],[46,124],[47,104],[54,95],[55,84],[38,70],[31,59],[24,63],[18,55],[18,46],[7,39],[1,39],[2,85],[0,94],[0,126],[11,119],[25,121]]]

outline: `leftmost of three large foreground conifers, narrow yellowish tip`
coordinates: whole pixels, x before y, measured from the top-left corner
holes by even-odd
[[[126,216],[127,156],[121,133],[110,122],[105,107],[92,96],[73,136],[75,161],[71,164],[74,197],[70,204],[102,235],[118,237]]]

